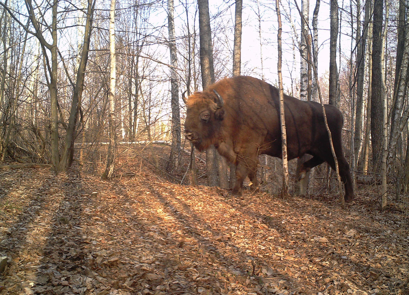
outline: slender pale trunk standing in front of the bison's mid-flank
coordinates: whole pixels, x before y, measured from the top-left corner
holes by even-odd
[[[282,49],[281,49],[281,14],[279,0],[276,0],[276,12],[277,21],[279,25],[277,33],[278,42],[278,63],[277,72],[279,76],[279,95],[280,95],[280,124],[281,124],[281,155],[283,159],[283,189],[281,191],[281,196],[283,198],[288,197],[288,161],[287,161],[287,133],[285,130],[285,113],[284,113],[284,90],[283,90],[283,76],[281,74],[281,63],[282,63]]]

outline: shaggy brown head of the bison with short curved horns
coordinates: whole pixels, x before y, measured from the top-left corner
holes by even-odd
[[[217,93],[196,92],[185,100],[187,106],[184,136],[203,151],[217,140],[217,134],[224,117],[223,99]]]

